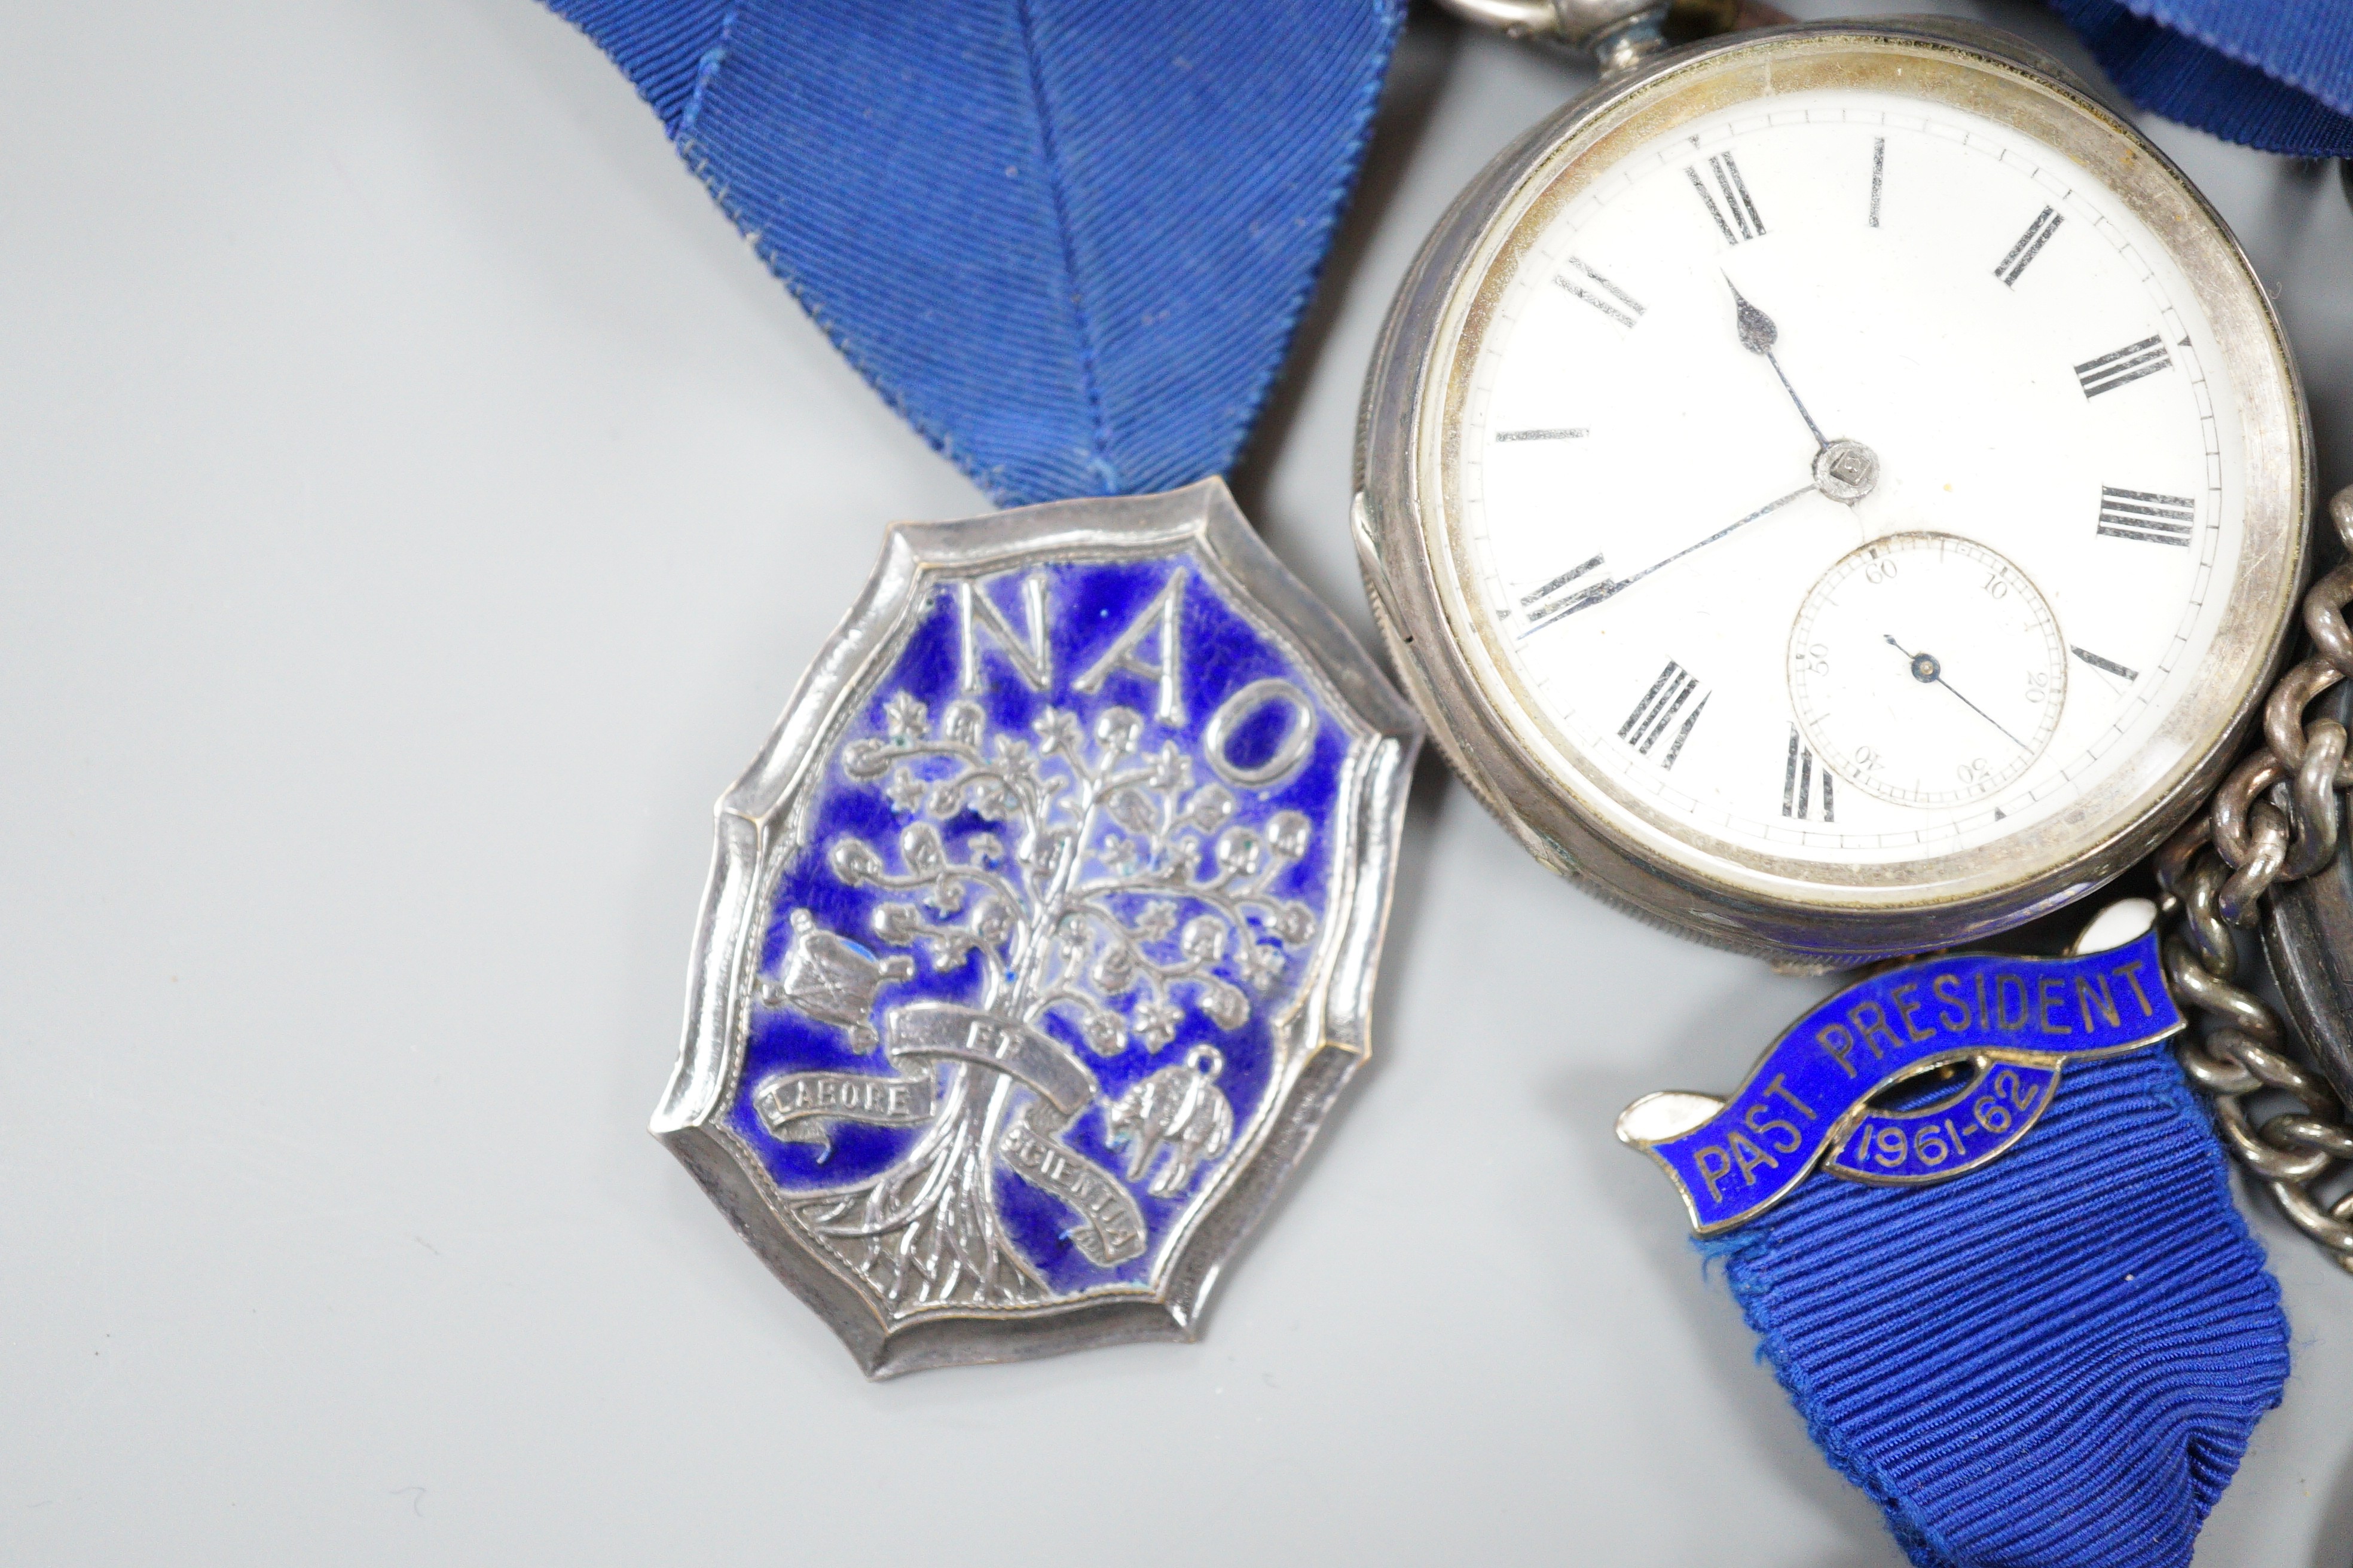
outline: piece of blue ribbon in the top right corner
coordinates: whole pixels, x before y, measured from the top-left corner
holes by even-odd
[[[2294,158],[2353,158],[2353,2],[2052,0],[2141,108]]]

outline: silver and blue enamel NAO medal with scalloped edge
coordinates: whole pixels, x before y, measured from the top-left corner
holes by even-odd
[[[1193,1338],[1365,1060],[1419,733],[1217,480],[894,527],[654,1133],[868,1375]]]

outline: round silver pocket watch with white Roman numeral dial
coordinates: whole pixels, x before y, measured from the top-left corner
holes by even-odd
[[[2153,148],[1991,49],[1833,26],[1499,169],[1377,367],[1367,576],[1539,853],[1722,940],[1871,950],[1887,912],[2028,917],[2186,813],[2278,651],[2304,444]]]

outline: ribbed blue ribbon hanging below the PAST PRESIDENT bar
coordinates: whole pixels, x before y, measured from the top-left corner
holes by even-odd
[[[1699,1241],[1920,1568],[2184,1568],[2280,1403],[2280,1286],[2165,1051],[2068,1067],[1932,1187],[1817,1180]]]

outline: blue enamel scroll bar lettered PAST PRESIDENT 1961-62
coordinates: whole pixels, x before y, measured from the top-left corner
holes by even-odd
[[[1713,1237],[1817,1168],[1892,1187],[1977,1171],[2033,1131],[2068,1060],[2181,1027],[2153,931],[2061,959],[1944,954],[1809,1011],[1729,1098],[1645,1095],[1617,1131],[1675,1182],[1694,1234]]]

